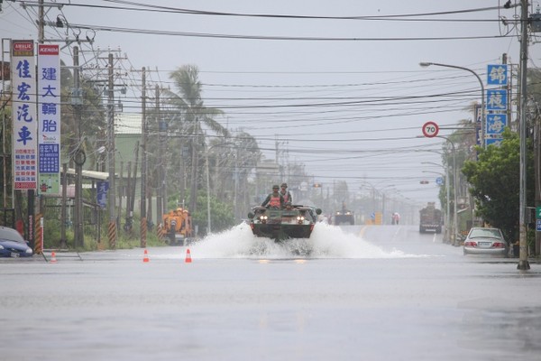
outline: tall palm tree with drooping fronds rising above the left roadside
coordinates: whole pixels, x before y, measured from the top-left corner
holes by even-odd
[[[170,125],[170,130],[188,136],[188,144],[191,151],[191,174],[190,174],[190,201],[189,210],[196,211],[197,204],[197,182],[198,182],[198,150],[204,142],[202,125],[209,130],[228,136],[229,132],[224,126],[215,121],[216,116],[223,114],[222,110],[206,107],[201,98],[202,85],[199,81],[199,70],[195,65],[184,65],[170,73],[175,87],[179,93],[164,90],[164,97],[167,103],[179,110],[176,124]]]

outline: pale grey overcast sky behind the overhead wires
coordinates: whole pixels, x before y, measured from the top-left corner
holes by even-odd
[[[36,8],[24,10],[20,3],[4,2],[0,35],[37,39]],[[194,64],[206,106],[223,109],[218,121],[254,135],[269,150],[267,157],[274,156],[278,140],[289,162],[305,163],[316,182],[332,187],[335,180],[347,180],[350,190],[397,190],[419,203],[437,199],[435,178],[443,169],[426,162],[441,164],[437,151],[445,142],[419,138],[422,125],[434,121],[440,134],[451,134],[461,120],[472,118],[467,107],[481,102],[481,86],[471,73],[423,69],[419,61],[472,69],[486,84],[487,65],[500,63],[503,53],[512,64],[519,60],[513,20],[520,8],[504,9],[499,0],[137,2],[174,12],[130,5],[136,2],[69,3],[51,7],[46,17],[55,21],[60,15],[72,28],[114,28],[81,31],[80,39],[94,42],[80,48],[87,67],[103,64],[96,58],[107,49],[120,48],[124,59],[117,66],[133,88],[124,99],[126,113],[141,112],[135,101],[141,73],[132,69],[147,67],[151,83],[170,87],[172,70]],[[78,6],[83,4],[93,6]],[[47,39],[66,36],[66,28],[47,27]],[[538,48],[532,42],[531,67],[540,61]],[[69,64],[70,51],[63,49]],[[446,92],[463,95],[431,97]]]

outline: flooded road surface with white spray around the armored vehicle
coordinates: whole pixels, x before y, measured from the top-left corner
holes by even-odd
[[[1,360],[532,360],[541,266],[417,227],[245,225],[186,247],[0,261]]]

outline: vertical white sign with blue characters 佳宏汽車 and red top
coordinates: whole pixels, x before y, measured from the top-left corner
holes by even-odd
[[[38,181],[38,119],[34,42],[12,41],[11,60],[14,190],[35,190]]]

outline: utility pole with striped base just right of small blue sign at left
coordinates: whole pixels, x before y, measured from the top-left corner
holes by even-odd
[[[107,236],[109,246],[116,247],[116,215],[115,215],[115,82],[114,76],[113,53],[109,53],[108,66],[108,102],[107,102],[107,157],[109,162],[109,227]]]

